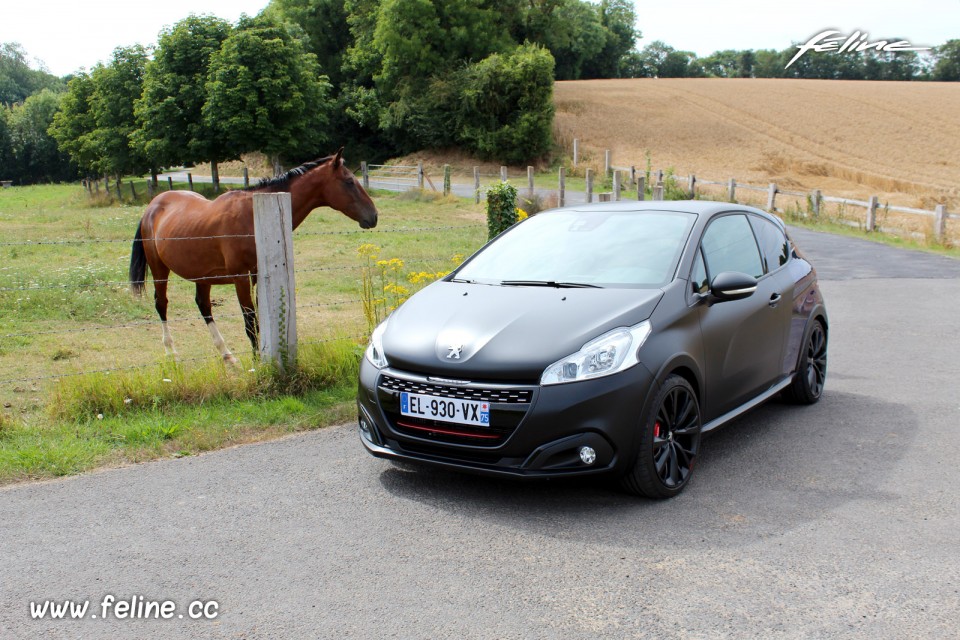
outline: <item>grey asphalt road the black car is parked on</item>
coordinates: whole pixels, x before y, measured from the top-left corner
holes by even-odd
[[[956,638],[960,261],[794,236],[824,398],[712,434],[678,498],[399,469],[352,425],[7,487],[0,638]],[[92,608],[31,620],[46,599]]]

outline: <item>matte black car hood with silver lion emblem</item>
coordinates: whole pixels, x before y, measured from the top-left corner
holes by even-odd
[[[659,289],[435,282],[390,316],[383,347],[397,369],[537,382],[586,342],[649,318],[661,297]]]

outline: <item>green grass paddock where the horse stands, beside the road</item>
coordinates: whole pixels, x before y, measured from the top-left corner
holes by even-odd
[[[263,367],[252,360],[232,287],[214,288],[214,317],[243,367],[219,362],[194,287],[178,279],[169,316],[181,361],[165,356],[149,281],[143,298],[126,283],[142,205],[91,204],[79,186],[0,190],[0,483],[349,418],[350,363],[368,331],[358,248],[372,244],[378,259],[401,259],[387,278],[412,290],[409,274],[449,271],[455,256],[486,239],[482,205],[373,195],[375,230],[321,209],[295,234],[304,380],[287,393],[250,371]]]

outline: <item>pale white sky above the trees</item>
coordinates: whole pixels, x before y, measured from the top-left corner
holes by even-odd
[[[190,13],[235,22],[268,0],[4,0],[0,42],[19,42],[31,60],[62,76],[110,59],[114,47],[152,45],[157,34]],[[827,29],[865,31],[916,46],[960,38],[960,0],[636,0],[638,46],[662,40],[698,56],[722,49],[785,49]],[[32,64],[34,68],[38,64]]]

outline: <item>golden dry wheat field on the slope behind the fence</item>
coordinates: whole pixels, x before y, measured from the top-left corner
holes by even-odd
[[[558,82],[557,137],[588,162],[960,210],[960,83]]]

